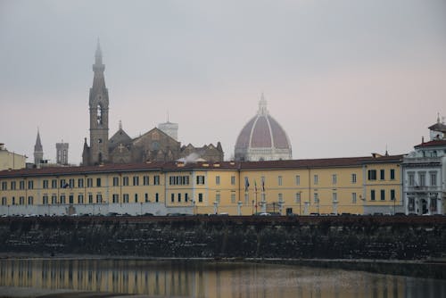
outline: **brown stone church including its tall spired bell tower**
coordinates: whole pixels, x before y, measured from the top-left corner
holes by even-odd
[[[177,161],[194,159],[201,161],[223,161],[223,150],[221,144],[204,145],[194,147],[193,145],[181,145],[177,140],[178,125],[175,123],[163,123],[160,129],[153,128],[139,137],[129,137],[120,127],[118,131],[109,138],[109,95],[105,87],[103,77],[103,55],[99,43],[95,52],[95,64],[93,64],[94,79],[90,88],[90,145],[85,138],[84,151],[82,153],[83,165],[96,165],[102,163],[131,163],[145,161]],[[172,130],[173,127],[173,130]]]

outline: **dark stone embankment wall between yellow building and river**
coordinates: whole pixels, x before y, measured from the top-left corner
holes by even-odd
[[[0,252],[444,260],[446,217],[10,217],[0,219]]]

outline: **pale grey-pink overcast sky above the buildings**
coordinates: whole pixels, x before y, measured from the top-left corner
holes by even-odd
[[[293,159],[409,153],[446,116],[444,0],[0,0],[0,143],[81,161],[97,40],[111,137],[176,122],[225,159],[258,110]]]

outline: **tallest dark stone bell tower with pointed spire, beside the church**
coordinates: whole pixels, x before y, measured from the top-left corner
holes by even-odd
[[[95,53],[93,87],[90,88],[90,145],[84,145],[83,164],[93,165],[109,160],[109,93],[103,78],[103,54],[99,40]]]

